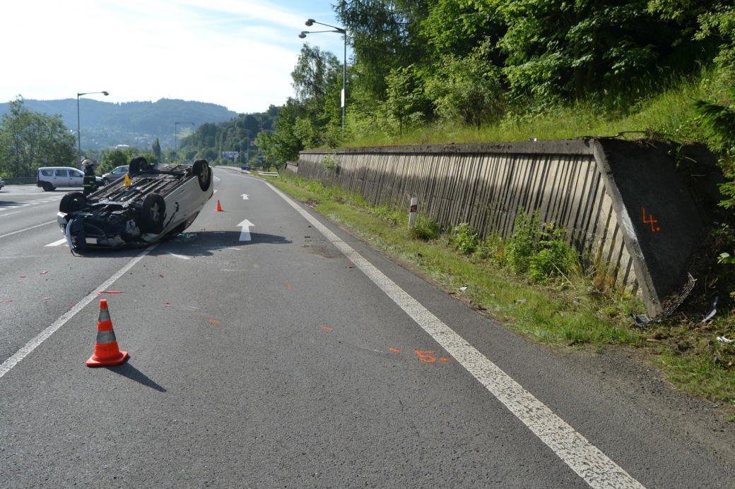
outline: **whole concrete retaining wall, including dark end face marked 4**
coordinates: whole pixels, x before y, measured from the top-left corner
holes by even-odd
[[[445,226],[468,222],[483,237],[511,236],[519,207],[539,211],[567,230],[587,264],[639,291],[656,315],[681,285],[703,228],[672,149],[590,139],[302,151],[298,175],[392,209],[417,197],[420,215]]]

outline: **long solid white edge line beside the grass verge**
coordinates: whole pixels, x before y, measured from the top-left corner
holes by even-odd
[[[480,381],[490,393],[506,406],[528,429],[570,466],[579,477],[595,489],[603,488],[636,488],[643,485],[631,477],[628,472],[600,452],[589,443],[584,436],[574,430],[566,421],[556,416],[553,411],[536,399],[522,385],[503,372],[495,363],[482,355],[475,347],[467,343],[462,336],[445,325],[437,316],[431,314],[406,291],[387,278],[379,269],[353,250],[339,236],[332,233],[287,195],[265,182],[276,194],[298,211],[312,226],[322,233],[326,239],[337,247],[359,269],[368,275],[370,280],[382,289],[393,302],[403,309],[417,324],[429,333],[456,361],[467,369],[467,372]]]

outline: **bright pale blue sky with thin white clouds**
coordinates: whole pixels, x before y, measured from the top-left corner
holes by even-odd
[[[322,30],[307,18],[339,25],[329,0],[7,0],[0,18],[0,102],[107,90],[85,97],[262,112],[293,95],[304,42],[343,59],[340,35],[298,37]]]

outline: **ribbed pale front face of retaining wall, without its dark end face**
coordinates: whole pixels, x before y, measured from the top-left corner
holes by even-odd
[[[567,230],[570,244],[588,264],[603,267],[618,287],[643,286],[649,312],[655,314],[667,291],[642,277],[646,270],[636,226],[628,222],[621,228],[620,213],[627,222],[628,211],[620,189],[610,188],[617,184],[606,144],[570,140],[303,151],[298,175],[351,189],[373,205],[392,209],[408,209],[410,198],[417,197],[421,215],[445,226],[468,222],[483,237],[495,231],[511,236],[519,207],[539,211],[543,222]],[[333,165],[325,159],[337,167],[326,169]],[[676,278],[667,280],[671,283],[664,289]]]

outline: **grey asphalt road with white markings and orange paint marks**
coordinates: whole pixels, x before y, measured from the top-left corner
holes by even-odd
[[[733,487],[656,379],[514,336],[264,181],[215,189],[179,239],[84,256],[63,192],[0,191],[1,488]],[[100,298],[130,358],[90,369]]]

